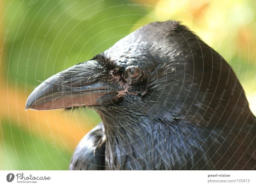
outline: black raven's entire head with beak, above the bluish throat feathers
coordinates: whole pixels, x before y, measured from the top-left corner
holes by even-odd
[[[230,115],[237,105],[240,112],[246,97],[239,82],[230,96],[235,81],[228,63],[185,26],[153,22],[91,60],[45,80],[28,97],[26,109],[91,107],[110,123],[134,115],[132,122],[146,117],[201,125],[223,91],[219,117],[211,123],[223,112]],[[235,122],[236,117],[229,119]]]

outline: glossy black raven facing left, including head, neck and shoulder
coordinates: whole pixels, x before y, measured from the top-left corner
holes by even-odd
[[[228,63],[187,27],[153,22],[40,84],[26,109],[96,110],[71,170],[252,170],[256,122]]]

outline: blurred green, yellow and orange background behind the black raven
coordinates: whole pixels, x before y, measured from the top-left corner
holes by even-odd
[[[25,111],[51,75],[92,58],[152,21],[175,19],[238,72],[256,113],[254,0],[0,1],[0,170],[66,170],[100,118],[93,110]]]

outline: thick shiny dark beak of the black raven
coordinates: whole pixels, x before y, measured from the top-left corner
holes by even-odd
[[[81,67],[79,68],[79,66]],[[84,71],[77,73],[77,69],[81,70],[83,67],[84,64],[72,66],[42,82],[29,95],[25,110],[45,111],[75,106],[101,105],[100,97],[113,92],[113,90],[104,87],[100,82],[88,82],[91,74]],[[77,75],[81,82],[77,83]],[[75,87],[71,86],[72,80],[76,80]],[[85,82],[86,85],[83,85],[82,82]],[[83,86],[79,86],[81,84]]]

